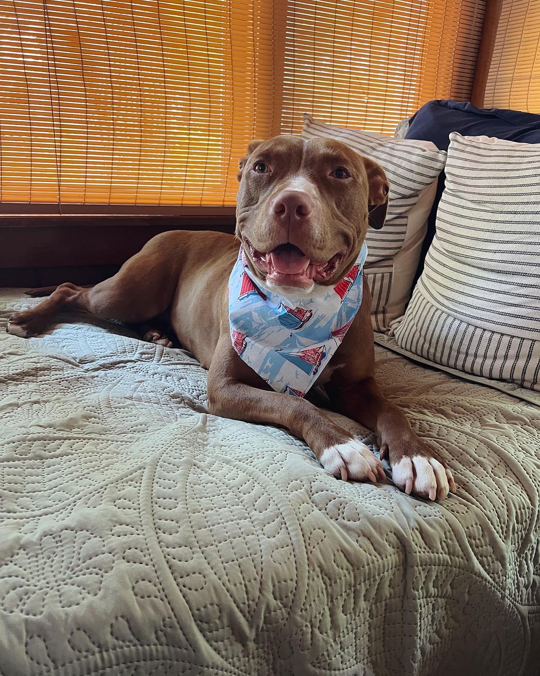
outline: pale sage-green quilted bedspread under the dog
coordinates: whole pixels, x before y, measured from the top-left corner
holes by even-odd
[[[540,409],[518,391],[377,347],[458,482],[431,503],[209,415],[181,350],[84,315],[25,340],[3,327],[34,301],[0,302],[1,675],[539,674]]]

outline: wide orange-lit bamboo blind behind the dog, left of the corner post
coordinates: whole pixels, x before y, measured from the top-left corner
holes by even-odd
[[[232,205],[302,112],[391,133],[467,99],[484,3],[1,0],[0,201]]]

